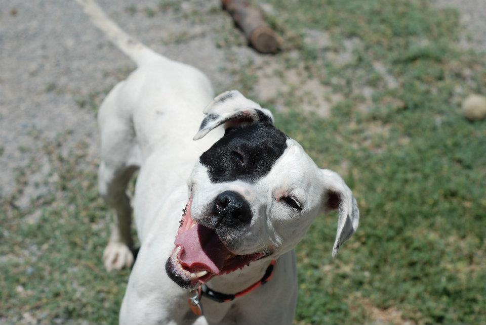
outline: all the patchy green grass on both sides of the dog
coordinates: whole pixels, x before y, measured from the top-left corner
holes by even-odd
[[[277,56],[275,74],[299,69],[343,99],[328,119],[303,114],[292,92],[282,92],[290,110],[266,104],[319,166],[344,176],[361,214],[334,260],[335,214],[318,217],[299,244],[296,323],[486,323],[486,123],[470,123],[459,110],[465,94],[486,89],[486,58],[458,47],[457,13],[409,0],[270,3],[272,24],[292,34],[286,46],[297,53]],[[306,29],[328,31],[332,44],[303,42]],[[359,42],[349,61],[325,59],[350,38]],[[222,30],[218,46],[230,53],[234,39]],[[236,67],[232,86],[252,94],[260,68]],[[366,86],[374,93],[359,109]],[[77,102],[96,109],[104,93]],[[83,144],[59,154],[64,136],[43,149],[56,191],[33,198],[27,211],[16,206],[32,163],[18,171],[18,191],[2,198],[0,320],[28,313],[44,323],[116,322],[129,271],[103,269],[109,218],[96,162]],[[36,211],[39,221],[26,222]]]

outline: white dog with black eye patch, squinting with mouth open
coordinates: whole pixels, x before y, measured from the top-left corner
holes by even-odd
[[[202,72],[130,37],[93,0],[76,1],[137,64],[98,114],[99,189],[116,215],[108,271],[134,261],[126,188],[139,170],[141,246],[119,322],[291,324],[294,248],[318,214],[337,210],[337,254],[358,226],[351,190],[278,130],[269,110],[236,90],[214,98]]]

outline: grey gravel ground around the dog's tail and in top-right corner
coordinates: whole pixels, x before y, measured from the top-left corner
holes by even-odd
[[[180,11],[187,13],[189,19],[178,19],[170,10],[150,17],[153,13],[148,8],[156,7],[156,3],[100,1],[126,31],[157,52],[203,70],[213,80],[215,89],[226,89],[232,81],[227,71],[234,58],[228,58],[224,50],[216,47],[215,38],[217,28],[229,18],[214,14],[206,21],[194,21],[198,11],[213,9],[217,13],[219,1],[183,3]],[[39,168],[26,177],[23,194],[15,202],[26,208],[31,198],[50,190],[49,182],[43,181],[50,172],[49,161],[40,150],[43,144],[65,134],[59,150],[69,150],[75,143],[86,141],[89,157],[96,159],[95,115],[89,109],[79,108],[76,98],[109,89],[134,64],[92,26],[72,1],[4,0],[2,5],[0,197],[15,190],[17,168],[35,161]],[[470,32],[463,44],[486,50],[486,1],[437,0],[437,5],[457,8]],[[238,62],[261,58],[245,47],[238,48],[236,54]],[[263,85],[264,81],[261,80]]]

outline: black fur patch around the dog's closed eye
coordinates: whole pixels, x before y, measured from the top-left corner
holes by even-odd
[[[208,168],[213,183],[255,182],[268,174],[284,153],[287,135],[263,115],[267,121],[233,128],[201,155],[199,161]]]

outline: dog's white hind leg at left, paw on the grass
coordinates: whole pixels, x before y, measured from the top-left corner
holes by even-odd
[[[110,91],[98,113],[101,133],[98,187],[106,204],[115,212],[110,240],[103,253],[103,262],[108,271],[130,267],[133,263],[130,233],[132,207],[126,190],[138,169],[138,147],[129,110],[118,100],[121,86],[123,83]]]

